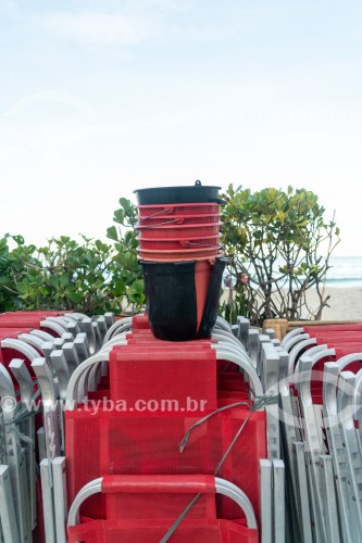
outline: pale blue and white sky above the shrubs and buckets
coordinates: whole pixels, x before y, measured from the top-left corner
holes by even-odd
[[[0,0],[0,236],[147,187],[305,188],[362,255],[360,0]]]

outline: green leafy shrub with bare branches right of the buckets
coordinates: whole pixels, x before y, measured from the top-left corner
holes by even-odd
[[[324,282],[339,230],[334,218],[325,220],[317,197],[291,187],[251,192],[229,185],[222,198],[222,240],[229,272],[234,278],[241,273],[250,278],[232,303],[242,302],[257,326],[265,318],[295,320],[302,312],[320,319],[328,302]],[[305,293],[311,288],[319,296],[316,308],[308,306]]]

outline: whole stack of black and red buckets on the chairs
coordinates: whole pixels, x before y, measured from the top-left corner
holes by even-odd
[[[219,190],[196,181],[135,191],[147,313],[158,339],[208,338],[215,324],[227,262]]]

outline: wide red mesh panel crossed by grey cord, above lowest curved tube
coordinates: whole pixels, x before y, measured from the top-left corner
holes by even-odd
[[[66,459],[68,500],[73,502],[87,482],[108,473],[213,475],[249,409],[230,408],[196,428],[183,453],[178,445],[185,432],[208,412],[180,414],[120,414],[99,411],[91,415],[79,408],[66,412]],[[239,487],[259,516],[259,459],[266,457],[264,412],[253,413],[220,471]],[[240,516],[226,498],[226,518]],[[221,500],[223,502],[223,498]],[[91,497],[83,514],[103,517],[104,504]],[[237,517],[236,517],[237,518]]]

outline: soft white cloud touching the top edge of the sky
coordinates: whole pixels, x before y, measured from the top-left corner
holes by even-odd
[[[108,11],[108,5],[99,10],[52,12],[40,18],[42,27],[76,41],[95,45],[132,46],[150,39],[164,42],[221,41],[236,31],[238,25],[219,21],[208,21],[208,10],[203,13],[189,1],[184,0],[139,0],[124,2],[120,10]],[[247,24],[247,23],[246,23]]]

